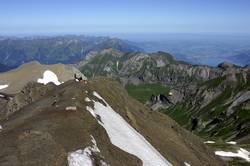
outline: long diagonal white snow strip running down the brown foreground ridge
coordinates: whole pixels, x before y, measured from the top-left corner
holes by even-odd
[[[144,166],[167,166],[168,162],[140,133],[131,127],[109,104],[97,93],[93,95],[103,100],[107,106],[100,102],[94,102],[94,109],[87,107],[87,110],[96,118],[99,115],[99,122],[107,131],[111,143],[120,149],[137,156],[142,160]]]

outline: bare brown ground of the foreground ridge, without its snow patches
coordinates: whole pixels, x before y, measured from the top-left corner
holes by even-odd
[[[142,165],[136,156],[114,146],[105,129],[86,110],[93,103],[84,99],[94,99],[93,91],[173,165],[225,165],[198,137],[135,101],[109,78],[96,78],[88,84],[68,81],[60,86],[33,83],[27,87],[32,92],[28,93],[31,102],[18,94],[0,110],[0,165],[67,165],[68,153],[90,146],[91,135],[100,149],[91,156],[95,165],[101,165],[100,159],[114,166]],[[68,106],[77,110],[66,110]]]

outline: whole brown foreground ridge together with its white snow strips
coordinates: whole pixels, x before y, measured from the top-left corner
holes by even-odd
[[[19,109],[1,109],[0,165],[224,165],[198,137],[108,78],[30,83],[12,100]]]

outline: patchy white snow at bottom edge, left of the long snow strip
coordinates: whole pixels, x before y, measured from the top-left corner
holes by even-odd
[[[84,150],[77,150],[68,154],[68,163],[69,166],[93,166],[91,159],[92,153],[100,153],[99,148],[97,147],[96,140],[91,135],[92,146],[86,147]],[[101,161],[102,166],[107,166],[104,161]]]

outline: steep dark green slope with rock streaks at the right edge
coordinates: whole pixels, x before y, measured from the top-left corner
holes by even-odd
[[[195,132],[207,138],[248,140],[250,72],[249,68],[208,80],[200,84],[182,102],[165,113],[191,129],[191,117],[198,119]],[[179,117],[174,114],[179,113]],[[183,119],[189,119],[184,120]]]

